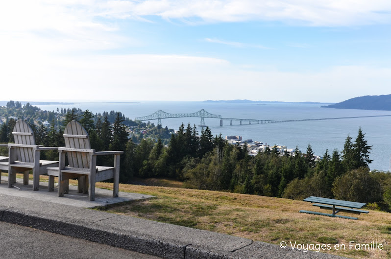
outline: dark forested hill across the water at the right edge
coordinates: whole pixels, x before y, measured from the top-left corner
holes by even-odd
[[[343,102],[324,105],[323,108],[359,109],[359,110],[383,110],[391,111],[391,94],[366,95],[351,98]]]

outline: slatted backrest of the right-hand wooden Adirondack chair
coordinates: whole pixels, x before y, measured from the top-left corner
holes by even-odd
[[[64,130],[65,146],[76,149],[91,149],[87,131],[75,120],[68,123]],[[88,152],[68,151],[68,163],[71,167],[89,168],[90,154]]]

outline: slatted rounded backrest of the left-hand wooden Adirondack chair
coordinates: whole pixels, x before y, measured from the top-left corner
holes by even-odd
[[[14,130],[15,144],[22,145],[35,145],[34,132],[31,127],[28,126],[27,122],[20,119],[15,123]],[[33,163],[34,152],[33,147],[15,147],[16,148],[16,159],[21,162]]]

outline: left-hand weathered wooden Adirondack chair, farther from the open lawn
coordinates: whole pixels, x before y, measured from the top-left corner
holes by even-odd
[[[24,172],[24,184],[28,184],[28,171],[33,171],[33,190],[39,188],[39,176],[47,174],[49,166],[58,166],[58,161],[40,160],[40,151],[55,150],[35,144],[34,132],[27,122],[20,119],[14,131],[15,144],[8,144],[8,187],[16,182],[16,173]]]

